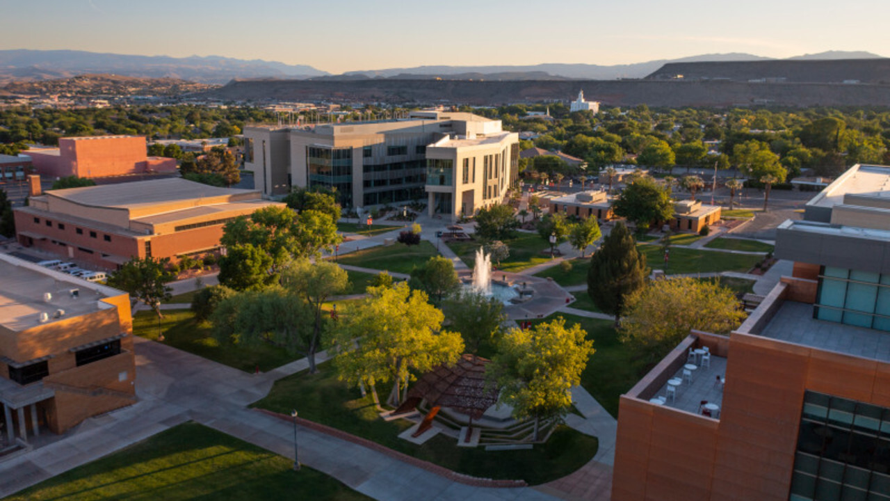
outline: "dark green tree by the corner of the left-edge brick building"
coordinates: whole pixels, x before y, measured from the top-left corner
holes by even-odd
[[[158,317],[163,318],[160,303],[173,297],[170,294],[173,289],[166,286],[166,283],[173,279],[173,275],[166,271],[169,262],[169,258],[155,259],[150,256],[130,259],[109,276],[109,287],[129,293],[135,300],[140,300],[151,307]]]

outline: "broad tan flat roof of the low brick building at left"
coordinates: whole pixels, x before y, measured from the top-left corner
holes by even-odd
[[[220,188],[195,183],[180,177],[53,190],[45,194],[86,206],[129,209],[172,201],[186,201],[243,193],[256,193],[256,198],[260,198],[260,193],[255,190]]]

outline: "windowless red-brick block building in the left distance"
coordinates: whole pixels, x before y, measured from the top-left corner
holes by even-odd
[[[176,160],[149,157],[144,136],[62,137],[58,148],[28,150],[43,177],[113,177],[176,172]]]

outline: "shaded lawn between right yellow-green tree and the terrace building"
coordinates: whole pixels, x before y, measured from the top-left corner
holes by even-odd
[[[587,369],[581,374],[581,386],[596,398],[609,414],[617,418],[619,397],[633,388],[636,382],[649,372],[652,365],[647,362],[646,357],[635,354],[631,348],[619,341],[615,323],[611,320],[556,313],[542,320],[534,320],[532,323],[550,322],[559,316],[565,318],[567,326],[581,324],[581,328],[587,331],[587,339],[594,340],[596,351],[587,362]],[[664,355],[659,354],[658,359]]]

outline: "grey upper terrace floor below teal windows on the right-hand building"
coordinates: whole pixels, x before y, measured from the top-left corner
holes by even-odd
[[[890,333],[813,318],[813,305],[785,301],[766,324],[762,336],[890,362]]]

